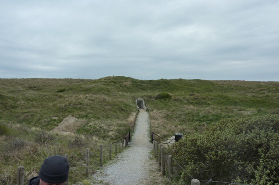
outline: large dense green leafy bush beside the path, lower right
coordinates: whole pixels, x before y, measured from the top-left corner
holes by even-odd
[[[199,180],[279,185],[279,114],[223,119],[173,145],[174,160]],[[182,171],[181,181],[191,182]]]

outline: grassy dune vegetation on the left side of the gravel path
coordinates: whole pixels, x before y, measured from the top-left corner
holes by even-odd
[[[16,184],[18,166],[25,167],[27,182],[46,157],[66,153],[70,183],[81,181],[86,148],[92,173],[101,144],[106,163],[109,143],[122,138],[135,119],[135,96],[114,90],[118,81],[0,79],[0,184]]]

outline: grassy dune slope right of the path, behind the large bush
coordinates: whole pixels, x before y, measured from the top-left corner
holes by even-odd
[[[164,139],[175,132],[202,131],[222,118],[278,112],[279,82],[159,80],[168,83],[172,98],[150,105],[152,130]]]

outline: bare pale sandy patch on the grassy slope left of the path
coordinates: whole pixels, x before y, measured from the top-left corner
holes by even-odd
[[[53,133],[63,134],[63,135],[72,135],[77,132],[77,130],[86,123],[86,120],[81,120],[76,117],[69,115],[64,118],[64,120],[51,130]]]

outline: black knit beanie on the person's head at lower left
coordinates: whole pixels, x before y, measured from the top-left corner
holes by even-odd
[[[68,179],[69,163],[61,155],[54,155],[44,160],[39,177],[46,183],[64,183]]]

